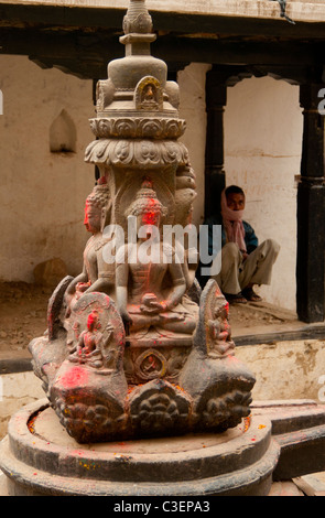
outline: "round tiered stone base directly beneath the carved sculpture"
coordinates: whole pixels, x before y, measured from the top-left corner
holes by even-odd
[[[259,416],[220,434],[80,445],[41,400],[11,419],[0,467],[15,496],[259,496],[279,454]]]

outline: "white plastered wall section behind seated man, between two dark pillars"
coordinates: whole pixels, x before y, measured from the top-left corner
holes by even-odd
[[[225,110],[227,186],[240,185],[246,219],[260,242],[273,238],[281,251],[272,284],[259,293],[295,311],[296,183],[300,174],[303,116],[299,86],[271,77],[250,78],[228,88]]]

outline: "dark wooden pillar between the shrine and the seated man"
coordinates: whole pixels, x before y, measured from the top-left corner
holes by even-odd
[[[220,212],[220,194],[225,188],[224,111],[227,87],[216,71],[206,77],[206,153],[205,153],[205,217]]]

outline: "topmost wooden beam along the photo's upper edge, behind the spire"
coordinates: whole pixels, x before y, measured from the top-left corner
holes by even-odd
[[[225,2],[224,2],[225,3]],[[254,7],[253,2],[252,7]],[[258,2],[259,4],[262,2]],[[256,13],[251,15],[240,15],[237,11],[230,15],[227,11],[208,12],[202,10],[199,12],[182,10],[177,12],[174,10],[151,10],[150,13],[153,19],[154,29],[156,31],[169,31],[178,33],[202,33],[209,34],[232,34],[232,35],[262,35],[270,37],[313,37],[323,39],[325,33],[325,22],[317,21],[314,17],[311,20],[297,21],[295,25],[288,23],[280,17],[280,9],[275,4],[268,1],[263,2],[272,12],[269,17],[259,15],[257,8]],[[116,3],[117,6],[117,3]],[[260,7],[260,6],[259,6]],[[315,9],[314,9],[315,10]],[[122,26],[122,18],[126,9],[116,8],[101,8],[101,7],[85,7],[85,4],[77,6],[77,3],[69,6],[51,6],[18,2],[0,2],[0,20],[1,23],[18,24],[18,23],[36,23],[42,25],[61,25],[61,26],[79,26],[79,28],[104,28],[120,30]]]

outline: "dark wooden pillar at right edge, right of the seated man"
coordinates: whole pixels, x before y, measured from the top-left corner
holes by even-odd
[[[303,322],[324,321],[325,206],[324,116],[317,106],[324,85],[301,86],[304,130],[297,186],[296,310]]]

